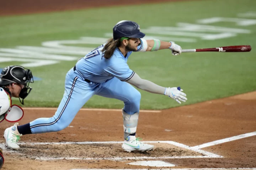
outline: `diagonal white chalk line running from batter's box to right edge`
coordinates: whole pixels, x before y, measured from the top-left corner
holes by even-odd
[[[192,149],[206,148],[206,147],[209,147],[209,146],[214,146],[214,145],[225,143],[225,142],[235,141],[235,140],[238,140],[238,139],[247,138],[247,137],[251,137],[251,136],[255,136],[255,135],[256,135],[256,131],[255,132],[250,132],[250,133],[245,133],[245,134],[238,135],[238,136],[233,136],[233,137],[229,137],[229,138],[220,139],[220,140],[213,141],[213,142],[204,143],[204,144],[194,146],[194,147],[191,147],[191,148]]]

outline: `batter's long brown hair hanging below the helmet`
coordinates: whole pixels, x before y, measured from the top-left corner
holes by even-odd
[[[120,45],[119,39],[114,40],[113,38],[108,39],[107,43],[104,45],[102,49],[102,53],[104,53],[105,59],[110,59],[113,55],[114,50]]]

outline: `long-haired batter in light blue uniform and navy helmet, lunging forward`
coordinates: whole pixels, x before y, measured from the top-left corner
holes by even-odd
[[[144,36],[136,22],[118,22],[113,27],[113,38],[81,58],[68,71],[65,93],[55,115],[50,118],[39,118],[22,126],[15,124],[7,128],[4,134],[6,146],[12,149],[20,148],[17,141],[22,135],[63,130],[93,95],[100,95],[124,102],[122,148],[127,152],[144,152],[153,149],[153,145],[142,143],[135,137],[141,95],[133,86],[150,93],[167,95],[178,103],[186,102],[187,98],[182,89],[158,86],[140,78],[129,68],[127,60],[133,51],[170,49],[173,55],[181,53],[181,47],[173,42],[144,40],[142,39]]]

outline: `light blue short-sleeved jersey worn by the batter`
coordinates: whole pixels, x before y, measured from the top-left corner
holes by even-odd
[[[134,71],[127,64],[128,57],[132,54],[132,51],[123,56],[119,48],[116,48],[110,59],[105,59],[103,57],[104,54],[102,54],[104,45],[98,46],[76,63],[76,70],[80,76],[95,83],[106,82],[113,77],[117,77],[121,81],[127,81],[132,78]],[[140,40],[137,51],[140,51],[142,46],[143,42]]]

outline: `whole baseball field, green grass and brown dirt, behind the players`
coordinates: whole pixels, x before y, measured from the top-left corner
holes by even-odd
[[[106,42],[121,20],[139,23],[146,39],[174,41],[182,49],[251,45],[252,50],[179,56],[160,50],[129,57],[140,77],[180,86],[188,98],[180,105],[138,89],[137,134],[155,145],[152,152],[123,152],[123,102],[95,95],[63,131],[22,136],[16,151],[2,138],[2,169],[256,169],[256,1],[38,3],[12,0],[0,7],[0,70],[22,65],[35,80],[20,124],[54,115],[66,73]],[[11,125],[2,122],[1,132]]]

